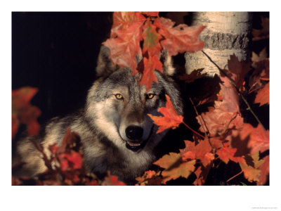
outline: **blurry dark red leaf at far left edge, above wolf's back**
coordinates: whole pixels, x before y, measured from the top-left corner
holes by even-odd
[[[37,118],[41,115],[41,110],[30,104],[37,91],[37,88],[32,87],[12,91],[12,138],[15,137],[20,123],[27,125],[29,136],[37,136],[39,133],[40,125]]]

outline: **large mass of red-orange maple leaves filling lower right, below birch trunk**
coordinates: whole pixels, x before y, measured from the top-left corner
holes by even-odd
[[[254,33],[259,34],[256,31]],[[206,73],[202,74],[202,70],[203,67],[190,75],[182,75],[179,79],[186,83],[195,82],[206,76]],[[204,185],[211,169],[218,169],[221,162],[240,168],[240,172],[223,181],[223,184],[231,184],[231,180],[240,174],[251,185],[264,185],[268,182],[269,130],[265,129],[251,108],[269,106],[269,58],[266,56],[266,49],[259,55],[253,53],[251,61],[240,61],[233,54],[228,60],[228,69],[220,69],[220,73],[215,96],[210,94],[206,98],[185,99],[192,103],[197,113],[200,134],[192,130],[193,139],[185,140],[185,148],[179,149],[178,153],[166,154],[154,162],[158,169],[149,170],[142,177],[136,178],[138,185],[166,184],[180,177],[188,179],[191,175],[192,184]],[[217,82],[215,78],[214,86]],[[250,106],[247,98],[253,96],[254,101]],[[212,106],[208,106],[210,103]],[[207,106],[207,111],[198,111],[202,106]],[[258,123],[257,126],[244,120],[241,111],[243,106],[247,107],[246,110],[251,110],[252,119]],[[164,124],[164,119],[162,124],[158,123],[157,118],[152,120],[160,128]],[[244,183],[237,183],[241,184]]]

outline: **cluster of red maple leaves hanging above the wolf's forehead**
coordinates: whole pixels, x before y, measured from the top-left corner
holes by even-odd
[[[204,47],[204,42],[198,38],[204,26],[174,25],[170,19],[159,17],[157,12],[115,12],[110,39],[103,44],[110,49],[113,65],[129,67],[133,75],[139,72],[140,84],[150,90],[152,82],[157,82],[154,71],[163,71],[159,60],[163,49],[169,56],[175,56]],[[136,56],[141,60],[139,63]]]

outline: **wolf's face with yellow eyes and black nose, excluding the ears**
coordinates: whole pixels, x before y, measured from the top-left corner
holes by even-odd
[[[117,146],[139,151],[156,130],[148,113],[156,115],[157,108],[164,106],[164,97],[161,85],[154,84],[147,92],[131,77],[131,70],[124,68],[93,86],[86,114]]]

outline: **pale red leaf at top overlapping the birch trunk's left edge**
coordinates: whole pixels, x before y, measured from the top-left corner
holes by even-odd
[[[165,38],[160,41],[163,49],[168,49],[170,56],[176,56],[178,53],[195,52],[204,48],[204,41],[198,36],[204,26],[191,26],[181,24],[176,27],[174,22],[166,18],[157,18],[154,25],[159,27],[159,34]]]

